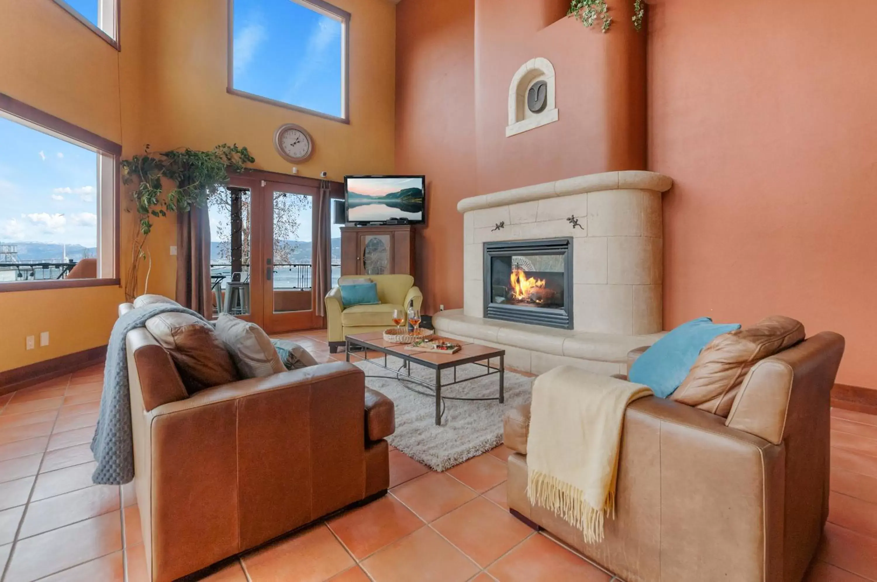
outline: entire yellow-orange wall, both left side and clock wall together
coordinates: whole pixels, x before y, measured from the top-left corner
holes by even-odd
[[[275,129],[302,124],[315,155],[300,175],[389,173],[394,165],[396,8],[386,0],[334,0],[351,12],[351,123],[231,96],[222,0],[120,0],[117,52],[50,0],[0,0],[0,92],[123,145],[123,155],[180,146],[247,145],[255,167],[291,173],[274,150]],[[123,191],[123,207],[130,209]],[[122,212],[122,274],[134,215]],[[175,221],[156,220],[149,290],[173,296]],[[146,269],[140,273],[140,292]],[[0,293],[0,371],[106,344],[120,287]],[[50,344],[25,351],[25,336]]]

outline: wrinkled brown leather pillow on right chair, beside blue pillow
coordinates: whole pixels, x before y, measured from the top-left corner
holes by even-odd
[[[717,336],[703,348],[670,399],[727,417],[752,366],[803,338],[803,323],[784,316],[766,317]]]

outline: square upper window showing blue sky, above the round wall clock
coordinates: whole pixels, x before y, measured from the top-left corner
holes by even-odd
[[[347,12],[322,0],[229,6],[230,93],[347,121]]]

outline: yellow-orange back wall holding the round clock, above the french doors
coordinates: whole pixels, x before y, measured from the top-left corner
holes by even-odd
[[[225,2],[149,0],[140,26],[160,42],[144,52],[144,78],[151,87],[144,96],[144,143],[153,149],[238,143],[253,153],[253,167],[291,174],[292,165],[275,152],[273,139],[277,127],[295,123],[310,131],[315,144],[314,156],[299,165],[299,175],[318,178],[325,171],[330,180],[343,181],[345,174],[391,173],[396,7],[386,0],[332,4],[352,15],[350,124],[226,93]],[[173,220],[163,221],[150,236],[152,293],[175,295],[176,259],[170,256],[170,245],[176,245]],[[141,291],[144,273],[141,270]]]

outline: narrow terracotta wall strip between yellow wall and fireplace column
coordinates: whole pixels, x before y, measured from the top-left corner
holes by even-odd
[[[417,284],[424,312],[456,309],[463,305],[457,202],[475,195],[474,0],[403,0],[396,25],[395,171],[427,177]]]

